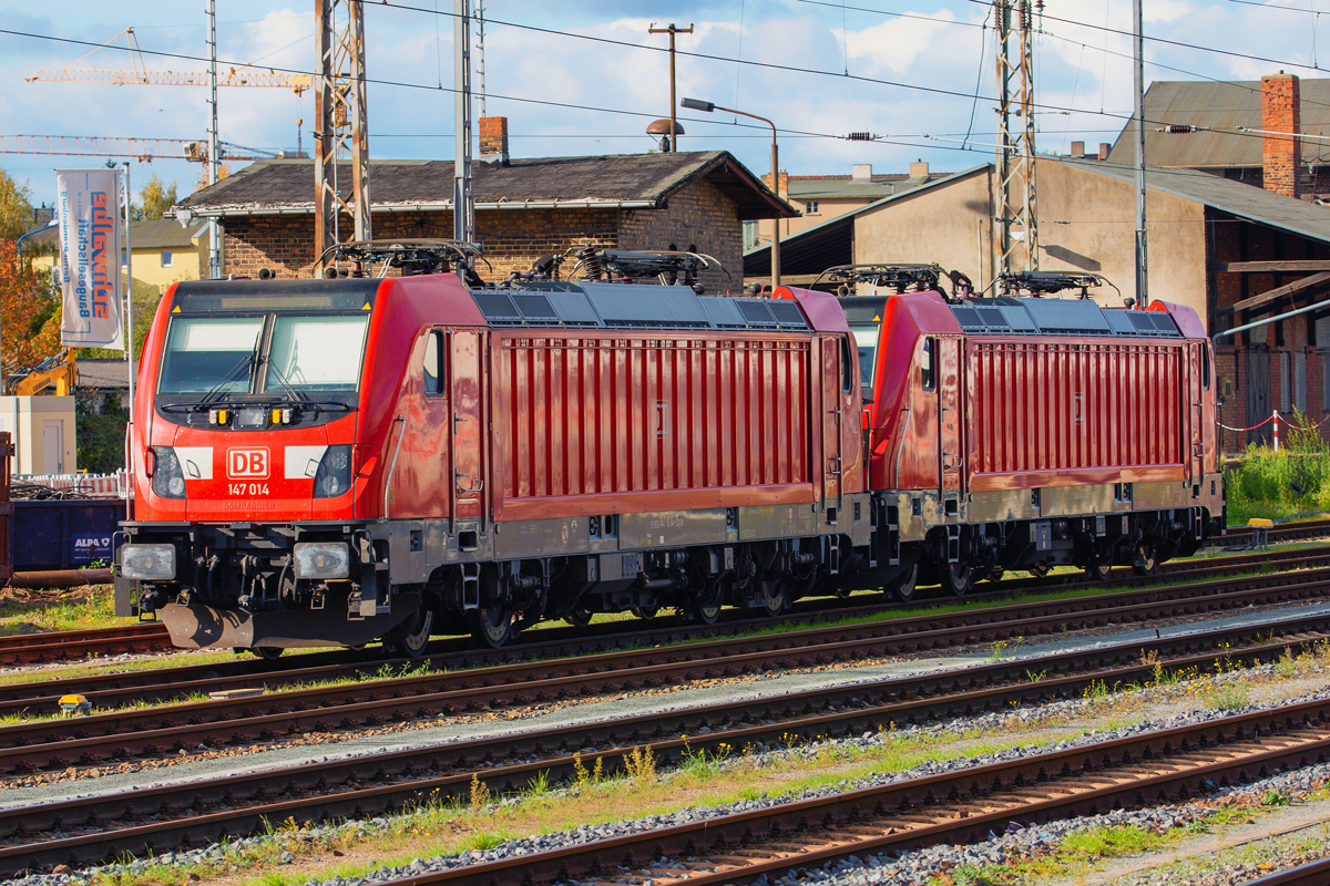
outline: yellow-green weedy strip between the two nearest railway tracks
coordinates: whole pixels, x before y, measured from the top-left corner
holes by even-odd
[[[1145,663],[1150,663],[1146,656]],[[902,772],[927,761],[974,757],[1012,747],[1044,748],[1060,740],[1109,729],[1142,719],[1156,719],[1181,708],[1205,708],[1206,693],[1225,681],[1242,680],[1253,696],[1281,692],[1285,679],[1330,684],[1330,647],[1322,646],[1298,656],[1285,656],[1265,668],[1237,671],[1216,656],[1217,668],[1206,673],[1170,673],[1154,668],[1142,685],[1095,687],[1075,709],[1056,716],[1040,716],[1039,709],[1013,712],[992,728],[930,729],[902,733],[895,724],[879,729],[871,741],[834,741],[815,736],[802,741],[786,735],[771,753],[751,748],[720,745],[689,747],[682,760],[662,768],[652,748],[629,753],[628,770],[606,765],[597,754],[579,754],[575,776],[556,785],[548,773],[539,773],[523,790],[493,796],[475,780],[469,796],[455,802],[426,802],[419,809],[372,822],[314,829],[287,821],[269,826],[262,845],[229,846],[223,858],[189,866],[144,863],[121,877],[101,875],[94,886],[185,886],[190,875],[221,886],[287,886],[310,877],[363,877],[383,866],[408,865],[415,858],[460,851],[485,851],[504,840],[595,826],[610,821],[666,814],[686,808],[732,804],[738,800],[794,796],[806,789],[853,784],[879,773]],[[1160,665],[1154,659],[1153,664]],[[1285,677],[1287,675],[1287,677]],[[1305,689],[1298,689],[1305,691]],[[1027,717],[1025,715],[1035,715]],[[1017,716],[1020,715],[1020,716]],[[1267,796],[1262,808],[1286,804],[1282,796]],[[1242,812],[1252,817],[1250,809]],[[1218,813],[1216,813],[1218,816]],[[1224,813],[1234,820],[1238,812]],[[1245,818],[1244,818],[1245,820]],[[1228,821],[1212,816],[1209,825]],[[1194,828],[1200,828],[1196,825]],[[1059,870],[1075,873],[1113,853],[1130,854],[1148,847],[1146,836],[1121,829],[1079,836],[1064,841],[1055,857],[1025,859],[1040,877]],[[1015,859],[1020,862],[1021,859]],[[1016,867],[1005,866],[1020,873]],[[998,878],[1003,871],[988,869],[950,871],[951,879],[936,882],[1008,883],[1035,882],[1039,877]],[[962,879],[968,877],[970,879]],[[988,879],[983,879],[983,878]],[[196,881],[197,882],[197,881]]]

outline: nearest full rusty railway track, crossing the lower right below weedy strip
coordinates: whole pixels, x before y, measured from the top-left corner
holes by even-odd
[[[978,842],[1011,824],[1194,797],[1327,753],[1330,701],[1311,701],[391,882],[751,883],[850,855]]]

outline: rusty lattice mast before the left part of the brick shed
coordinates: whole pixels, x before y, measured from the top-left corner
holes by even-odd
[[[344,19],[339,21],[339,15]],[[319,77],[314,89],[314,255],[342,242],[339,215],[354,239],[374,238],[370,219],[370,121],[364,82],[364,11],[358,0],[315,0]],[[338,161],[351,163],[351,198],[338,191]],[[315,274],[319,268],[315,267]]]

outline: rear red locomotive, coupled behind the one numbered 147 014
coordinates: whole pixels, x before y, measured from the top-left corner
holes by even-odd
[[[919,267],[864,275],[903,288]],[[938,291],[841,304],[868,402],[866,562],[899,596],[1056,565],[1149,574],[1224,533],[1213,352],[1190,308]]]

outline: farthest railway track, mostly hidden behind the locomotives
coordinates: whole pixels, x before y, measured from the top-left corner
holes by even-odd
[[[1317,538],[1322,535],[1330,535],[1330,521],[1307,521],[1302,523],[1287,523],[1285,526],[1278,526],[1270,530],[1270,541],[1297,541],[1305,538]],[[1246,527],[1232,527],[1229,530],[1228,539],[1233,545],[1242,543],[1250,539],[1250,530]],[[1327,549],[1330,550],[1330,549]],[[1315,557],[1317,551],[1301,551],[1303,557]],[[1266,551],[1262,554],[1252,554],[1234,558],[1222,558],[1225,561],[1242,561],[1246,563],[1264,562],[1262,558],[1290,558],[1293,551]],[[1160,567],[1162,574],[1172,575],[1177,571],[1193,571],[1196,561],[1185,561],[1177,563],[1164,563]],[[1119,567],[1113,570],[1113,582],[1132,580],[1130,570],[1127,567]],[[1037,590],[1044,587],[1060,587],[1069,583],[1067,576],[1055,575],[1047,578],[1019,578],[1019,579],[1005,579],[991,584],[994,590],[986,590],[978,594],[972,594],[974,599],[988,599],[995,594],[1009,594],[1013,591],[1027,591]],[[811,600],[809,603],[813,603]],[[826,606],[826,600],[819,600],[817,603],[821,607]],[[918,606],[918,603],[914,603]],[[726,623],[729,622],[742,622],[754,620],[751,615],[747,615],[739,610],[730,610],[726,614]],[[678,619],[682,623],[682,619]],[[557,630],[557,628],[556,628]],[[438,651],[444,651],[446,644],[450,643],[467,643],[463,638],[460,640],[438,640],[434,646],[438,646]],[[59,631],[59,632],[43,632],[43,634],[13,634],[7,636],[0,636],[0,664],[44,664],[51,662],[69,662],[85,658],[98,658],[106,655],[118,655],[124,652],[165,652],[174,647],[170,644],[170,638],[166,634],[166,628],[158,623],[140,623],[124,627],[113,628],[93,628],[85,631]],[[432,650],[434,651],[434,647]],[[326,655],[340,656],[344,660],[346,652],[334,652]],[[310,658],[310,656],[301,656]],[[258,669],[259,662],[247,663],[254,669]]]

